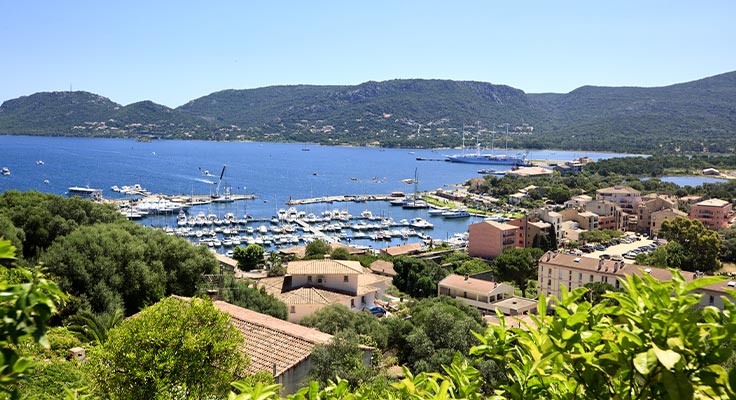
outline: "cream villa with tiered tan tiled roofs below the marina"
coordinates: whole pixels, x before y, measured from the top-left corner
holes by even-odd
[[[391,280],[357,261],[325,258],[290,261],[285,276],[261,279],[258,285],[284,302],[289,321],[297,322],[331,304],[361,311],[383,296]]]

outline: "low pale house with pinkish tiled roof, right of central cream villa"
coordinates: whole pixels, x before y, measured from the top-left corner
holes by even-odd
[[[514,296],[514,287],[469,276],[450,274],[437,285],[437,294],[450,296],[473,306],[483,314],[495,313],[495,302]],[[528,312],[528,310],[525,310]]]

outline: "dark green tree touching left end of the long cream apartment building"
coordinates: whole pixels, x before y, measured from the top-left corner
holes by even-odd
[[[493,260],[493,270],[502,281],[513,281],[526,296],[528,281],[537,277],[537,266],[542,250],[537,248],[511,248]]]

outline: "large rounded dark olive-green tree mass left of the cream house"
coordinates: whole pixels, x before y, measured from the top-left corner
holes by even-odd
[[[134,223],[81,227],[41,260],[78,308],[127,315],[169,294],[193,295],[202,274],[217,267],[206,248]]]

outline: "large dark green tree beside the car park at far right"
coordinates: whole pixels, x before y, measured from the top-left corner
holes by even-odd
[[[685,259],[685,271],[710,272],[720,268],[718,252],[722,241],[717,232],[703,226],[698,220],[677,217],[662,223],[660,235],[668,241],[679,243]]]

